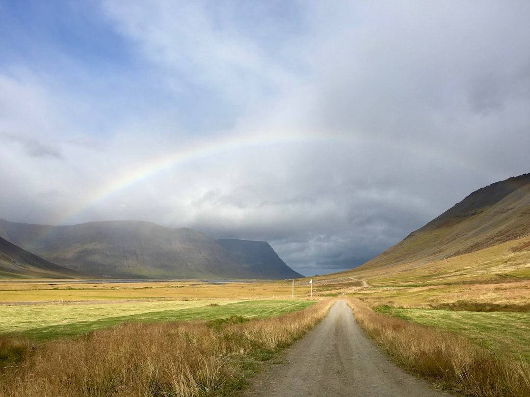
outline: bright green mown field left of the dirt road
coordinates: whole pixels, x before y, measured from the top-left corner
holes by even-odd
[[[215,302],[215,305],[212,303]],[[199,300],[107,304],[0,306],[0,335],[45,341],[74,337],[126,322],[213,320],[240,315],[268,318],[302,310],[313,301]]]

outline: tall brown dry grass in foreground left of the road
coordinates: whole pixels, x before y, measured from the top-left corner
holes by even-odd
[[[0,369],[0,396],[233,395],[244,373],[238,364],[300,338],[331,302],[266,320],[128,323],[77,339],[25,348]],[[18,347],[17,347],[18,346]],[[11,351],[10,350],[10,351]]]

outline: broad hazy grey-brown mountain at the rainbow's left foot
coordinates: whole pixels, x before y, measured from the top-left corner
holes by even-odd
[[[242,262],[204,233],[151,222],[54,227],[0,220],[0,236],[54,263],[95,276],[278,278]]]

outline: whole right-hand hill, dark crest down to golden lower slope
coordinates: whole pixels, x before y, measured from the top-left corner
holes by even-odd
[[[499,287],[509,290],[520,282],[525,287],[519,292],[527,294],[530,174],[485,186],[364,265],[315,281],[359,280],[388,287],[509,283]],[[458,296],[468,290],[461,288]]]

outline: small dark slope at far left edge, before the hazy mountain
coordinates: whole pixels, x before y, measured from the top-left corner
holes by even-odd
[[[31,254],[0,237],[0,278],[73,278],[81,274]]]

